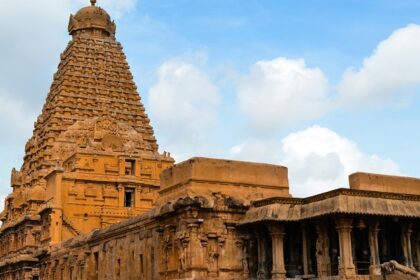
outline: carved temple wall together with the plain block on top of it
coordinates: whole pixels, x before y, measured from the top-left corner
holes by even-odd
[[[41,279],[248,279],[252,234],[236,225],[256,189],[262,197],[288,194],[287,169],[200,158],[163,172],[162,181],[160,203],[148,213],[41,256]]]

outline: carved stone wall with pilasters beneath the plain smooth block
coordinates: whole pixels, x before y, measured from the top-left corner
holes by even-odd
[[[234,227],[244,210],[215,205],[185,199],[169,212],[70,239],[41,257],[40,277],[246,279],[246,237]]]

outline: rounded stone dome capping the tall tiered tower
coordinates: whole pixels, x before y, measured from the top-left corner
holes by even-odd
[[[97,6],[80,9],[74,16],[70,15],[68,31],[74,35],[79,30],[102,30],[106,35],[115,35],[115,23],[109,14]]]

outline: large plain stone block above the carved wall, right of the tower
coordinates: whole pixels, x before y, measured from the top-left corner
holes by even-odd
[[[161,173],[161,203],[184,196],[229,195],[244,201],[289,197],[287,168],[279,165],[192,158]]]

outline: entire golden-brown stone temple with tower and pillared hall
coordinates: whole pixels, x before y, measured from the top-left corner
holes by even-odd
[[[420,179],[294,198],[283,166],[175,164],[108,13],[92,0],[68,31],[0,213],[0,280],[420,279]]]

